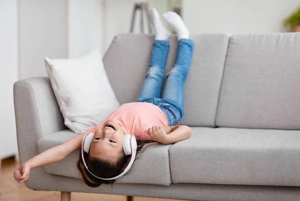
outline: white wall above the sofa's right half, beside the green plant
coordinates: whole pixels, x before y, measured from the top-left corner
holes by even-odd
[[[282,20],[299,0],[182,0],[190,33],[271,33],[286,31]]]

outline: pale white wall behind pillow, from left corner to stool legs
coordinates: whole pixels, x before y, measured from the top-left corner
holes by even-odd
[[[19,0],[20,79],[47,76],[43,58],[74,58],[129,31],[136,0]],[[139,32],[139,11],[134,32]],[[147,32],[147,24],[144,22]]]

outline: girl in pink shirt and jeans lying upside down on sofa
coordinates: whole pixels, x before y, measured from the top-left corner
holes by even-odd
[[[114,180],[99,178],[108,179],[123,172],[130,159],[123,151],[124,135],[131,134],[137,138],[137,152],[146,140],[172,144],[189,138],[192,130],[178,126],[177,122],[183,116],[183,84],[190,65],[193,41],[188,38],[189,32],[179,15],[174,12],[163,14],[163,19],[177,34],[178,45],[175,64],[167,74],[164,92],[159,98],[170,33],[163,27],[155,9],[150,10],[150,18],[156,33],[155,41],[137,101],[121,105],[99,125],[21,164],[13,175],[18,183],[28,179],[30,169],[60,161],[84,143],[77,168],[85,184],[90,187],[113,184]],[[85,134],[90,136],[87,146],[83,140]]]

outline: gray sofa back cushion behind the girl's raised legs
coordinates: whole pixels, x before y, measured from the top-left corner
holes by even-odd
[[[226,34],[192,35],[194,50],[184,85],[184,112],[181,124],[215,127],[215,116],[224,60]],[[103,64],[119,103],[137,99],[147,72],[154,35],[120,34],[114,37]],[[177,39],[170,37],[165,74],[175,61]]]

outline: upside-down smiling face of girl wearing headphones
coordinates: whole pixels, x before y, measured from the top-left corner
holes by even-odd
[[[107,120],[94,133],[89,148],[90,157],[115,163],[123,152],[124,131],[117,121]]]

